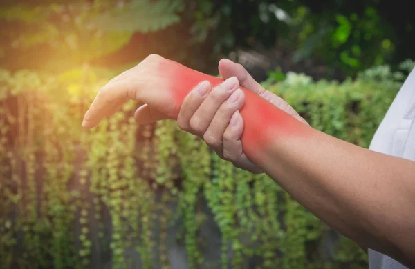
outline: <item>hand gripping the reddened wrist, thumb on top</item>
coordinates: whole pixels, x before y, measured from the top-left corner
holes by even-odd
[[[211,90],[210,83],[205,81],[185,97],[178,114],[178,125],[201,137],[219,157],[231,161],[234,166],[261,173],[261,169],[246,157],[240,140],[243,119],[239,109],[245,97],[238,89],[239,83],[295,119],[308,123],[286,101],[265,90],[240,64],[223,59],[219,62],[219,72],[226,79],[224,83]]]

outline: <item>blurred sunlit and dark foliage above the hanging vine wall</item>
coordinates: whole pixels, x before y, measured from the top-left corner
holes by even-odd
[[[405,1],[3,0],[0,16],[9,70],[118,72],[156,53],[216,73],[220,57],[257,53],[260,79],[275,67],[342,79],[415,53]]]

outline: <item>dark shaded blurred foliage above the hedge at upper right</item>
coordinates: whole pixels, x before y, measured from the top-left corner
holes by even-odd
[[[189,11],[183,16],[193,21],[192,43],[209,43],[214,53],[252,47],[283,52],[283,59],[278,54],[268,63],[318,61],[329,67],[326,77],[338,77],[338,73],[340,77],[354,77],[371,66],[389,63],[396,68],[396,63],[414,57],[408,49],[414,41],[413,23],[402,18],[402,8],[391,1],[332,0],[324,5],[309,0],[186,3]],[[295,53],[291,56],[284,52]]]

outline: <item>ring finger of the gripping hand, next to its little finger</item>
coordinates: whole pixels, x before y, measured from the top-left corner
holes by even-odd
[[[223,133],[228,126],[232,114],[242,108],[245,95],[241,89],[237,89],[230,95],[229,99],[222,103],[214,115],[208,130],[203,134],[203,141],[216,152],[219,157],[223,157]]]

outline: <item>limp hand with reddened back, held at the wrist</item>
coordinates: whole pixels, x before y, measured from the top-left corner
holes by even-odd
[[[203,80],[214,85],[222,81],[151,54],[138,66],[111,79],[100,89],[84,116],[82,126],[86,129],[97,126],[130,99],[139,103],[140,108],[136,111],[139,123],[177,119],[183,99]]]

